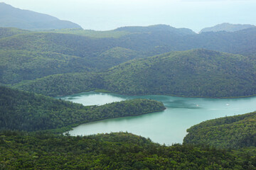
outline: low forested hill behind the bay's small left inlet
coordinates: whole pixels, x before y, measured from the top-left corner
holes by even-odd
[[[95,72],[54,74],[32,81],[22,81],[12,86],[46,96],[67,96],[103,88],[102,75]]]

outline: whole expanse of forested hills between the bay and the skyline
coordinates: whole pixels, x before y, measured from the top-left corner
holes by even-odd
[[[104,33],[80,29],[53,30],[51,33],[2,28],[0,84],[18,86],[19,89],[48,96],[90,89],[105,89],[122,94],[151,94],[155,91],[154,94],[178,96],[251,96],[255,95],[255,31],[255,28],[249,28],[233,33],[196,34],[188,29],[164,25],[124,27]],[[246,57],[208,50],[162,54],[194,48],[238,53]],[[149,57],[157,54],[162,55]],[[181,55],[180,62],[178,54]],[[186,57],[183,56],[185,54]],[[138,58],[146,59],[134,60]],[[126,68],[122,70],[123,67]],[[142,72],[139,70],[144,72],[144,77],[141,77]],[[119,75],[122,72],[127,75]],[[68,77],[64,74],[75,77],[75,81],[78,81],[72,84],[80,88],[69,88],[70,79],[61,80],[64,84],[59,85],[53,84],[48,77]],[[100,79],[93,79],[91,75],[96,74]],[[132,75],[128,77],[128,74]],[[154,77],[150,77],[151,74]],[[92,78],[87,81],[88,77]],[[45,79],[47,81],[43,82]],[[38,81],[43,82],[42,85],[37,84]],[[186,89],[188,84],[193,86]],[[58,89],[57,86],[62,88]],[[142,89],[142,86],[145,88]],[[176,89],[177,86],[179,89]]]

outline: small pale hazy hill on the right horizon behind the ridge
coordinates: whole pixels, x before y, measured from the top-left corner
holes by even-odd
[[[218,32],[218,31],[227,31],[235,32],[238,30],[244,30],[247,28],[255,28],[255,26],[250,24],[231,24],[231,23],[220,23],[213,27],[203,28],[200,33],[203,32]]]

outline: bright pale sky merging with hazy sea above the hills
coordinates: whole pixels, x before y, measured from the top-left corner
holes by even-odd
[[[1,0],[0,0],[1,1]],[[256,25],[256,0],[2,0],[16,8],[47,13],[82,28],[167,24],[202,28],[218,23]]]

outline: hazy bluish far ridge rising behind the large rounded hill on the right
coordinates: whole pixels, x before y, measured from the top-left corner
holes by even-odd
[[[203,48],[255,57],[256,28],[236,32],[193,33],[186,28],[166,25],[124,27],[111,31],[55,30],[55,33],[85,35],[91,38],[114,38],[114,45],[141,52],[145,57],[164,52]],[[107,36],[108,35],[108,36]],[[109,43],[110,45],[111,42]]]

